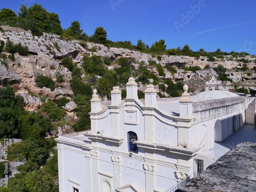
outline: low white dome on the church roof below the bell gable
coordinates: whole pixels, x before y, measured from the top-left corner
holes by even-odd
[[[229,91],[219,91],[219,90],[204,91],[197,95],[191,96],[191,98],[193,99],[193,102],[213,100],[213,99],[224,99],[229,97],[240,97],[240,96]]]

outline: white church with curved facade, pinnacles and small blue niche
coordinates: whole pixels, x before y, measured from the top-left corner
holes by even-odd
[[[164,192],[214,162],[215,141],[254,124],[255,101],[220,89],[158,98],[152,84],[138,99],[131,77],[127,96],[91,99],[91,130],[59,136],[61,192]]]

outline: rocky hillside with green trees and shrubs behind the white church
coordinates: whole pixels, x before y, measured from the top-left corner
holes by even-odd
[[[62,29],[58,15],[38,4],[22,5],[18,15],[2,9],[0,139],[2,146],[6,138],[12,143],[8,146],[9,162],[21,165],[10,165],[9,175],[18,173],[0,192],[58,191],[53,138],[90,129],[93,89],[102,100],[108,100],[113,87],[119,86],[125,98],[125,84],[133,76],[140,99],[150,83],[158,97],[179,97],[184,83],[190,94],[197,94],[215,75],[226,90],[254,93],[255,59],[245,52],[193,51],[188,45],[166,50],[163,39],[151,47],[141,39],[137,45],[114,42],[102,27],[89,36],[78,21]],[[75,103],[74,108],[67,103]],[[3,160],[0,169],[5,168]]]

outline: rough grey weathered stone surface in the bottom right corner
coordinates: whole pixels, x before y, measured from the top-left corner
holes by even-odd
[[[176,191],[256,191],[256,143],[240,143]]]

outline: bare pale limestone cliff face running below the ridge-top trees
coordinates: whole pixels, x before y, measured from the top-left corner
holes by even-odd
[[[18,93],[25,95],[42,95],[46,96],[52,100],[58,99],[59,97],[71,97],[73,92],[70,89],[69,80],[71,77],[71,72],[61,65],[61,59],[64,56],[72,57],[73,61],[81,67],[83,55],[92,56],[93,54],[104,57],[108,56],[113,62],[118,60],[120,57],[125,57],[132,59],[133,65],[137,68],[138,63],[144,61],[148,65],[149,61],[154,60],[156,63],[161,64],[163,67],[165,65],[173,66],[177,68],[177,73],[170,73],[164,68],[165,77],[160,77],[163,79],[171,79],[173,81],[189,81],[189,80],[202,80],[200,89],[203,88],[204,82],[208,80],[212,75],[216,74],[214,70],[204,70],[197,71],[196,73],[187,72],[180,69],[182,66],[199,66],[204,69],[206,65],[209,67],[216,67],[218,65],[223,65],[228,70],[233,68],[241,68],[243,62],[237,61],[237,58],[232,58],[231,56],[225,56],[223,59],[216,58],[216,61],[209,62],[206,57],[200,57],[196,59],[194,57],[188,56],[168,56],[161,55],[156,57],[151,54],[145,54],[138,51],[127,50],[122,48],[108,48],[100,44],[93,44],[91,42],[86,42],[86,46],[81,46],[78,40],[61,40],[58,35],[44,33],[42,36],[37,37],[30,33],[30,31],[25,31],[19,28],[13,28],[8,26],[1,26],[4,30],[0,31],[0,40],[7,42],[14,42],[14,44],[21,43],[23,46],[29,48],[30,54],[28,56],[20,56],[15,54],[15,61],[6,59],[8,66],[6,67],[3,63],[0,63],[0,84],[11,84],[11,86]],[[9,56],[9,53],[3,53]],[[254,57],[247,56],[250,61],[246,65],[249,69],[254,66]],[[3,61],[2,61],[3,62]],[[115,65],[109,66],[113,68]],[[155,68],[148,69],[158,75],[158,71]],[[35,84],[35,77],[38,74],[43,74],[45,76],[51,77],[56,81],[58,75],[63,75],[65,78],[65,83],[58,84],[54,91],[50,91],[48,88],[38,88]],[[248,82],[248,88],[251,90],[256,90],[254,79],[256,79],[255,74],[243,73],[243,72],[227,72],[229,78],[233,82],[239,83],[246,81]],[[232,89],[230,82],[225,82],[227,89]],[[201,90],[195,90],[195,93]],[[30,102],[31,100],[31,102]],[[27,97],[27,109],[34,110],[37,109],[40,104],[34,104],[36,102],[35,98]]]

